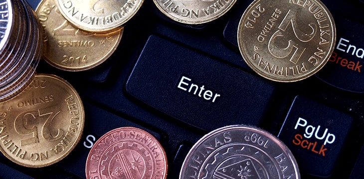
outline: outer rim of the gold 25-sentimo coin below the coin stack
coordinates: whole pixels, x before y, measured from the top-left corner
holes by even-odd
[[[85,125],[85,110],[84,110],[84,105],[83,105],[83,103],[82,103],[82,100],[81,100],[81,98],[80,98],[80,96],[79,96],[79,94],[77,93],[77,91],[76,91],[76,89],[74,89],[73,87],[72,87],[72,85],[71,84],[69,84],[66,80],[64,80],[64,79],[62,79],[62,78],[60,78],[60,77],[58,77],[58,76],[56,76],[56,75],[52,75],[52,74],[36,74],[35,76],[34,76],[34,79],[36,78],[36,77],[47,77],[47,78],[53,78],[53,79],[56,79],[57,81],[59,81],[59,82],[62,82],[63,84],[65,84],[69,89],[71,89],[73,92],[74,92],[74,94],[75,94],[75,97],[77,97],[77,99],[79,100],[79,102],[80,102],[80,113],[82,113],[81,114],[81,116],[80,116],[80,119],[81,119],[81,121],[80,121],[80,132],[79,132],[79,134],[80,135],[78,135],[78,137],[76,137],[76,140],[75,140],[75,142],[70,146],[70,148],[63,154],[63,155],[61,155],[60,157],[58,157],[58,158],[56,158],[55,160],[53,160],[53,161],[50,161],[50,162],[48,162],[48,163],[44,163],[44,164],[39,164],[39,165],[30,165],[30,164],[25,164],[25,163],[21,163],[20,161],[17,161],[17,160],[15,160],[14,158],[12,158],[12,157],[10,157],[5,151],[4,151],[4,149],[2,149],[2,147],[1,147],[1,145],[0,145],[0,152],[7,158],[7,159],[9,159],[10,161],[12,161],[12,162],[14,162],[15,164],[18,164],[18,165],[20,165],[20,166],[24,166],[24,167],[29,167],[29,168],[42,168],[42,167],[47,167],[47,166],[50,166],[50,165],[52,165],[52,164],[55,164],[55,163],[57,163],[57,162],[59,162],[59,161],[61,161],[61,160],[63,160],[65,157],[67,157],[72,151],[73,151],[73,149],[77,146],[77,144],[80,142],[80,140],[81,140],[81,138],[82,138],[82,134],[83,134],[83,129],[84,129],[84,125]],[[30,84],[29,84],[30,85]],[[20,93],[22,93],[22,92],[24,92],[24,91],[21,91]],[[19,94],[20,94],[19,93]],[[11,100],[11,98],[10,99],[8,99],[8,100]],[[79,114],[80,114],[79,113]]]

